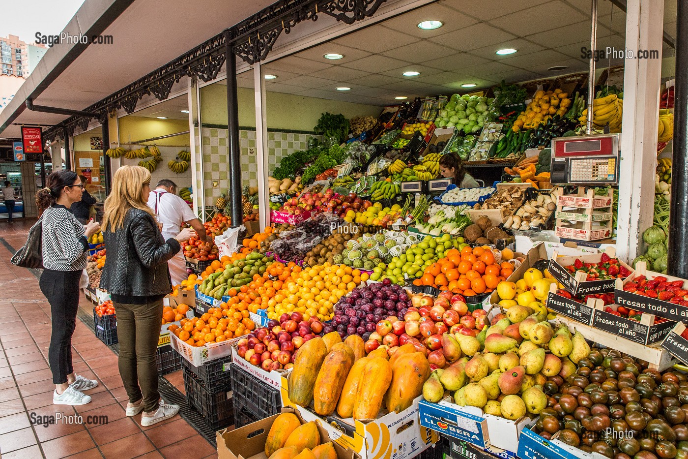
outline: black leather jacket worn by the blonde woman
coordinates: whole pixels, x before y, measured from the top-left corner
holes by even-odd
[[[139,209],[127,212],[116,232],[103,231],[107,249],[100,288],[116,295],[157,296],[172,291],[167,261],[182,248],[179,241],[165,241],[158,224]]]

